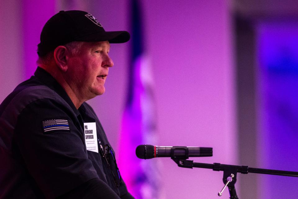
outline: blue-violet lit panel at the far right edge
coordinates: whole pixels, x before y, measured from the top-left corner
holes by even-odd
[[[257,26],[259,139],[262,168],[298,168],[297,21],[262,21]],[[259,176],[262,198],[297,198],[297,178]]]

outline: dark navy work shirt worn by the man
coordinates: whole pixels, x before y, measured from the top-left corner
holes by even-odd
[[[62,120],[69,128],[44,131],[45,122]],[[120,197],[100,153],[86,149],[84,123],[96,123],[99,143],[109,144],[93,109],[79,109],[45,70],[22,82],[0,105],[0,198],[55,198],[94,179]],[[105,190],[102,190],[103,192]]]

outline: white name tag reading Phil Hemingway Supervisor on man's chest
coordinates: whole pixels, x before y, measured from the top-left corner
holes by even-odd
[[[87,150],[98,153],[96,123],[84,123],[84,135]]]

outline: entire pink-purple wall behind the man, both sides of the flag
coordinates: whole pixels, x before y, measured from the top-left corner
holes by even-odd
[[[1,83],[10,82],[7,87],[1,86],[1,99],[23,81],[23,74],[28,77],[34,71],[38,35],[53,13],[61,9],[85,9],[93,13],[106,30],[129,30],[128,1],[34,2],[24,1],[23,5],[18,5],[5,1],[1,5],[1,15],[6,17],[0,19],[1,23],[9,25],[4,28],[1,24],[1,38],[7,39],[3,42],[10,49],[6,53],[4,45],[0,47],[5,54],[1,53],[0,57],[0,68],[5,74],[1,76]],[[143,1],[142,7],[146,50],[155,81],[159,137],[157,143],[148,144],[213,147],[213,157],[194,160],[238,164],[233,34],[228,3],[153,0]],[[17,9],[25,8],[29,10],[19,16]],[[4,13],[9,13],[13,20],[8,23]],[[41,18],[32,19],[30,13]],[[24,27],[19,24],[20,18]],[[16,40],[11,39],[11,35]],[[115,66],[110,70],[106,93],[89,101],[116,150],[124,150],[117,143],[126,98],[129,45],[111,45],[110,55]],[[217,192],[223,187],[222,172],[178,168],[170,159],[147,161],[158,161],[161,165],[161,198],[217,198]],[[120,169],[132,168],[133,165],[129,165]],[[241,190],[237,193],[241,196]],[[223,197],[229,197],[227,191]]]

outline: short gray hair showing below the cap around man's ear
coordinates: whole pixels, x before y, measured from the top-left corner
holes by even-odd
[[[78,55],[81,51],[81,47],[83,45],[83,41],[72,41],[70,43],[67,43],[63,46],[65,46],[72,56]],[[42,57],[38,57],[38,60],[36,61],[37,65],[49,65],[52,59],[54,58],[54,50],[47,53],[46,55]]]

